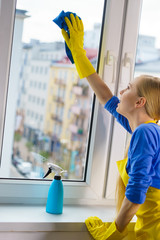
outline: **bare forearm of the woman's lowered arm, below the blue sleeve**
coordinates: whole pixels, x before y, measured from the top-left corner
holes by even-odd
[[[133,216],[138,211],[141,204],[132,203],[126,197],[123,200],[122,207],[115,221],[119,232],[123,232]]]

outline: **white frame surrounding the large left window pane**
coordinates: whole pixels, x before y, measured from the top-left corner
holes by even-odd
[[[132,5],[134,5],[135,2],[135,6],[140,6],[138,1],[141,2],[140,0],[130,0],[129,2]],[[126,11],[129,11],[126,9],[126,2],[128,1],[108,0],[105,2],[105,18],[98,72],[111,88],[112,92],[116,94],[121,66],[122,39],[124,40],[124,32],[122,29],[124,27],[124,15],[126,15]],[[0,65],[0,74],[2,76],[1,88],[3,87],[5,89],[4,93],[6,95],[16,0],[1,0],[1,3],[1,13],[3,14],[1,14],[0,17],[3,19],[0,21],[0,31],[2,31],[1,29],[3,28],[7,30],[5,31],[3,39],[0,39],[0,50],[3,50],[1,53],[6,56],[3,68]],[[134,11],[136,12],[136,9],[134,9]],[[7,12],[7,14],[5,14],[5,12]],[[115,73],[114,78],[113,72]],[[8,91],[10,91],[11,88],[13,88],[13,83],[9,83]],[[1,101],[3,104],[0,106],[1,116],[4,116],[5,100],[6,97],[4,96]],[[11,102],[8,101],[8,108],[10,104]],[[8,128],[7,131],[13,131],[12,125],[9,124],[9,115],[11,116],[11,114],[14,115],[14,113],[9,111],[5,117],[5,125]],[[66,204],[114,204],[113,198],[108,197],[110,193],[106,194],[108,191],[106,190],[106,183],[107,176],[109,176],[108,171],[110,171],[109,162],[112,160],[110,156],[112,156],[112,151],[115,149],[115,146],[117,151],[114,129],[116,129],[116,131],[119,131],[119,129],[117,129],[113,117],[98,103],[97,99],[95,99],[92,117],[86,182],[64,181],[64,203]],[[0,128],[3,129],[3,121],[0,122],[0,124]],[[5,159],[5,154],[7,154],[7,145],[12,144],[12,139],[7,139],[6,135],[4,132],[3,159]],[[123,138],[123,142],[124,141],[125,137]],[[4,161],[2,161],[0,168],[0,176],[2,177],[6,167],[3,162]],[[108,183],[109,182],[110,179],[108,180]],[[0,203],[44,204],[46,203],[49,186],[50,181],[1,178]]]

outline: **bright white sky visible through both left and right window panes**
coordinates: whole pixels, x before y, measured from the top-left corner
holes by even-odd
[[[118,0],[117,0],[118,1]],[[62,40],[61,31],[52,20],[64,11],[75,12],[91,30],[102,22],[104,0],[17,0],[17,8],[28,11],[24,20],[23,41],[39,39],[42,42]],[[160,46],[160,0],[143,0],[139,33],[157,38]]]

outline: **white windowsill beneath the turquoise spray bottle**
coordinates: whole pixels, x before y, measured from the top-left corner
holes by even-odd
[[[63,214],[53,215],[46,213],[45,206],[1,204],[0,213],[0,232],[87,231],[84,221],[90,216],[97,216],[104,222],[112,222],[115,218],[115,208],[112,206],[67,205]]]

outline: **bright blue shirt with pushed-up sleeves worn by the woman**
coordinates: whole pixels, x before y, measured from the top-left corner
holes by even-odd
[[[141,124],[132,133],[127,118],[116,111],[119,99],[113,96],[104,106],[132,134],[126,171],[129,181],[125,195],[133,203],[142,204],[148,187],[160,189],[160,127]]]

